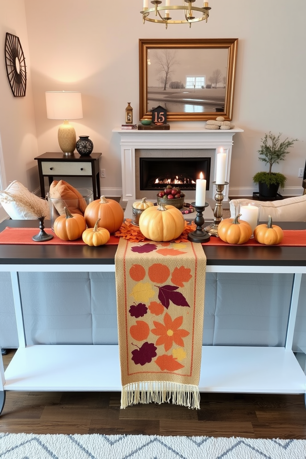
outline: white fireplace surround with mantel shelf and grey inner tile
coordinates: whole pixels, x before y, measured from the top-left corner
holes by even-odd
[[[189,128],[170,130],[123,130],[113,129],[113,132],[120,134],[121,147],[121,168],[122,168],[122,201],[136,200],[142,197],[156,199],[156,189],[141,190],[140,166],[141,158],[152,158],[155,161],[177,161],[179,158],[185,166],[189,162],[203,162],[208,158],[206,181],[208,190],[207,201],[214,202],[216,187],[213,185],[216,177],[216,156],[221,148],[226,153],[226,176],[229,182],[233,136],[243,129],[204,129]],[[153,161],[154,162],[154,161]],[[201,168],[201,166],[196,166]],[[195,167],[195,166],[194,166]],[[209,172],[210,171],[210,172]],[[202,170],[200,170],[202,172]],[[159,173],[157,173],[159,175]],[[197,176],[198,178],[198,176]],[[146,188],[149,188],[148,186]],[[186,199],[195,199],[195,189],[184,190]],[[223,191],[224,201],[228,201],[228,185]]]

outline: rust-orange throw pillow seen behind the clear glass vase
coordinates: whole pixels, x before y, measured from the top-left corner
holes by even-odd
[[[65,213],[67,207],[71,213],[84,215],[87,203],[81,193],[65,180],[54,180],[50,185],[50,198],[60,215]]]

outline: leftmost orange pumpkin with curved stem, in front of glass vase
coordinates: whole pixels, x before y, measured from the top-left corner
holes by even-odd
[[[71,213],[64,207],[65,215],[59,215],[54,222],[53,229],[57,237],[63,241],[74,241],[82,236],[86,229],[83,215]]]

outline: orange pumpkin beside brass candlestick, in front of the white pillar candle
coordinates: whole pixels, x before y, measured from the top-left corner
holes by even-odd
[[[224,218],[218,224],[218,236],[222,241],[229,244],[243,244],[252,235],[252,228],[248,222],[239,220],[241,213],[232,218]]]

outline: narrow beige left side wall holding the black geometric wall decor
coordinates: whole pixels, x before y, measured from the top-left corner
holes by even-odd
[[[6,77],[4,42],[6,32],[20,39],[27,66],[25,97],[14,97]],[[29,189],[38,187],[36,126],[31,84],[31,64],[24,0],[0,1],[0,140],[3,157],[0,161],[2,186],[18,179]],[[1,147],[0,147],[1,154]],[[0,206],[0,219],[4,213]]]

